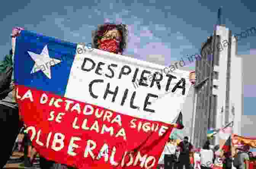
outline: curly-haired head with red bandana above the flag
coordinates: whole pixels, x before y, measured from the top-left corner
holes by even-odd
[[[126,49],[128,31],[126,25],[104,23],[93,33],[93,48],[121,54]]]

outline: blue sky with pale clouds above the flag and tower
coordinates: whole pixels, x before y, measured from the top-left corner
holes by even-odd
[[[252,0],[233,0],[232,3],[222,0],[5,1],[0,6],[0,51],[2,57],[8,53],[11,29],[15,26],[70,42],[91,42],[91,31],[98,24],[114,21],[129,28],[125,55],[167,66],[198,52],[201,43],[213,33],[220,6],[223,23],[233,34],[256,27],[256,1]],[[238,54],[249,54],[250,49],[256,49],[255,38],[250,36],[239,41]],[[188,69],[193,70],[194,64]],[[253,91],[256,83],[245,81],[245,86]],[[252,116],[256,92],[250,91],[245,91],[244,118],[250,122],[254,119],[256,123],[256,117]],[[248,131],[246,127],[244,130]],[[246,132],[244,134],[253,135]]]

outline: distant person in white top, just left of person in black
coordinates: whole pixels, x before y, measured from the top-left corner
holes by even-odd
[[[173,138],[169,138],[164,149],[164,164],[165,169],[176,169],[176,148],[177,145]]]

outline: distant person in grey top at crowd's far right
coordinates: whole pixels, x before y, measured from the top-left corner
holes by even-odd
[[[249,169],[249,155],[242,148],[236,148],[236,153],[234,156],[234,167],[237,169]]]

